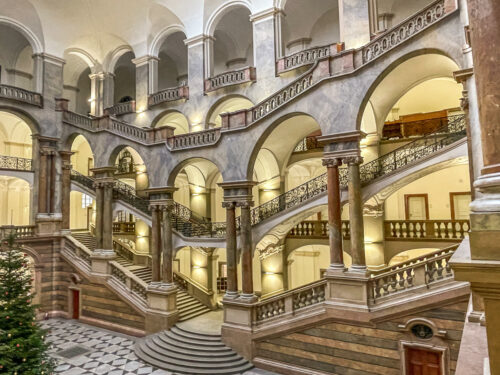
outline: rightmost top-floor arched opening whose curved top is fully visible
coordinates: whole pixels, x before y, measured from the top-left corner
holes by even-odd
[[[253,26],[248,8],[230,8],[216,24],[212,36],[214,75],[254,65]]]

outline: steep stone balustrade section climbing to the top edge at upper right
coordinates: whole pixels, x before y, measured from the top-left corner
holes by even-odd
[[[363,63],[373,61],[414,35],[429,28],[446,15],[444,0],[438,0],[363,47]]]

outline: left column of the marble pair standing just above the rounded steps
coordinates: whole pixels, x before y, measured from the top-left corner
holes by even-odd
[[[238,297],[238,262],[236,257],[236,203],[222,202],[226,209],[227,289],[224,298]]]

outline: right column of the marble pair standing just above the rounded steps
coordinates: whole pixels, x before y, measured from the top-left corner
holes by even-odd
[[[257,299],[253,291],[253,244],[252,244],[252,201],[238,202],[241,207],[241,281],[242,293],[240,298],[248,302]]]

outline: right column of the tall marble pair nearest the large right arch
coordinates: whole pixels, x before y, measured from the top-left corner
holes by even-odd
[[[361,177],[359,166],[363,162],[361,156],[348,157],[343,160],[349,168],[349,221],[351,231],[352,266],[349,271],[366,272],[363,201],[361,198]]]

